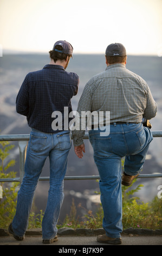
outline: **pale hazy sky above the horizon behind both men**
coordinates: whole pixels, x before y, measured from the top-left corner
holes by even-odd
[[[48,52],[57,40],[74,53],[121,42],[128,54],[162,56],[162,0],[0,0],[3,50]]]

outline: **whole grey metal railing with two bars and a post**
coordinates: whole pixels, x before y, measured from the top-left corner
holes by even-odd
[[[152,131],[153,137],[162,137],[162,131]],[[0,135],[0,141],[18,141],[18,148],[20,151],[20,177],[17,178],[5,178],[0,179],[0,182],[20,182],[22,183],[24,176],[24,164],[25,156],[27,150],[27,144],[29,141],[30,135]],[[72,137],[73,139],[73,137]],[[88,133],[85,133],[84,139],[88,139]],[[162,178],[161,174],[139,174],[137,178]],[[90,176],[65,176],[64,180],[94,180],[100,179],[99,175],[90,175]],[[49,180],[49,177],[40,177],[40,181]]]

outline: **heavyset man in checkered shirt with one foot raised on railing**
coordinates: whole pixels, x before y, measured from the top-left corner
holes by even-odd
[[[142,119],[149,120],[157,113],[157,103],[147,83],[126,69],[126,60],[126,50],[122,44],[108,45],[107,68],[87,82],[75,120],[75,127],[81,127],[85,121],[83,113],[96,113],[99,120],[96,122],[94,115],[87,114],[87,119],[92,119],[90,122],[86,120],[85,124],[90,123],[89,141],[100,174],[103,229],[106,232],[98,236],[97,241],[112,244],[121,243],[121,184],[129,186],[139,175],[153,139],[150,129],[142,125]],[[82,158],[85,153],[85,130],[74,129],[72,134],[75,153]],[[125,164],[121,180],[122,157],[125,157]]]

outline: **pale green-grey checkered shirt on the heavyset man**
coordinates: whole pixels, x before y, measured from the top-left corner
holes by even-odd
[[[147,83],[118,63],[107,66],[87,82],[77,107],[80,116],[83,111],[103,111],[103,123],[106,111],[110,113],[110,123],[139,123],[142,118],[155,117],[157,103]],[[84,133],[85,130],[72,131],[75,146],[83,143]]]

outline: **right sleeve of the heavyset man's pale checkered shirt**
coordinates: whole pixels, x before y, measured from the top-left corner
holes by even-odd
[[[146,95],[146,108],[144,110],[143,117],[147,120],[152,119],[157,114],[157,103],[154,101],[151,94],[150,88],[147,86],[147,95]]]

